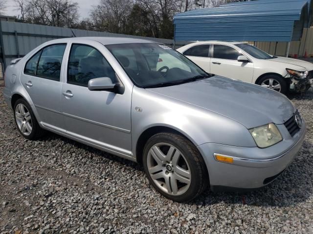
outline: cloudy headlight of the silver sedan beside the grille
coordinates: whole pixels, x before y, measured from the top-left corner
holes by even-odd
[[[269,123],[260,127],[249,129],[255,143],[260,148],[274,145],[283,139],[276,125]]]

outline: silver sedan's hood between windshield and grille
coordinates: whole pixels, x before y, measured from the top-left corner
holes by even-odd
[[[220,76],[148,90],[229,117],[248,129],[282,124],[295,112],[291,101],[276,91]]]

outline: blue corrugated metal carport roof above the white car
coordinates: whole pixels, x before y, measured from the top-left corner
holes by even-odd
[[[175,40],[291,41],[311,24],[313,0],[254,0],[174,16]]]

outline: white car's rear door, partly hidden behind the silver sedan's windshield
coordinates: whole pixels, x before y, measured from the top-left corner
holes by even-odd
[[[204,71],[210,72],[209,44],[195,45],[182,54],[196,63]]]

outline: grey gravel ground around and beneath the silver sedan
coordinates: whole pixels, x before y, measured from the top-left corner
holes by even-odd
[[[2,88],[0,88],[2,93]],[[257,191],[179,204],[137,164],[49,133],[18,134],[0,96],[1,233],[313,233],[313,90],[291,96],[307,122],[284,175]]]

